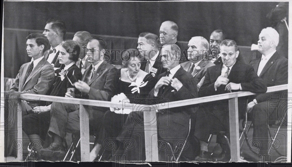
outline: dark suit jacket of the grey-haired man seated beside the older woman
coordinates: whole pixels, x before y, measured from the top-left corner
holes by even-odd
[[[166,72],[160,74],[157,81],[163,76],[166,76]],[[180,69],[174,74],[173,78],[177,78],[182,82],[183,87],[178,91],[176,91],[171,85],[165,86],[164,89],[161,87],[157,97],[162,95],[163,100],[167,100],[168,102],[197,98],[197,81],[190,73],[180,67]],[[163,133],[160,134],[160,137],[164,139],[186,138],[189,130],[190,114],[196,112],[196,109],[197,108],[194,106],[183,106],[159,111],[157,127],[158,130],[163,131]]]

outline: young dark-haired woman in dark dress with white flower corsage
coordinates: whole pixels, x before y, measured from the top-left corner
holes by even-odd
[[[53,84],[51,96],[64,97],[66,92],[76,91],[72,83],[82,77],[80,69],[75,65],[79,53],[80,47],[76,41],[68,40],[61,43],[58,58],[62,65]],[[51,104],[52,102],[47,102],[46,106],[34,107],[34,114],[28,114],[23,118],[22,129],[30,138],[35,150],[41,149],[44,144],[44,139],[50,125]]]

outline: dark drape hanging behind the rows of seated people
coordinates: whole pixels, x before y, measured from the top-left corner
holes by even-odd
[[[260,30],[270,25],[266,15],[277,4],[4,1],[5,77],[15,77],[20,66],[30,60],[25,51],[25,37],[36,30],[42,32],[48,18],[65,21],[67,32],[71,32],[65,36],[66,39],[72,39],[75,32],[84,30],[108,37],[107,41],[111,42],[109,49],[136,47],[136,37],[141,32],[159,35],[159,27],[166,20],[178,24],[178,41],[189,41],[192,36],[209,39],[213,30],[223,29],[227,38],[235,40],[238,45],[251,46],[257,44]]]

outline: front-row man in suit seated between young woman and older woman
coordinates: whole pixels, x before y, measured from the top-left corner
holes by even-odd
[[[83,99],[108,101],[111,98],[113,74],[110,69],[113,65],[104,61],[106,49],[105,41],[101,38],[91,37],[86,46],[87,61],[90,67],[84,72],[82,81],[73,85],[81,92]],[[115,70],[111,70],[115,72]],[[75,98],[73,92],[67,92],[68,98]],[[89,129],[91,133],[100,131],[102,118],[107,111],[105,107],[84,106],[89,113]],[[66,133],[76,133],[80,130],[79,105],[53,102],[51,105],[51,123],[44,148],[39,151],[39,158],[58,161],[65,156],[62,141]],[[48,146],[48,147],[46,147]]]

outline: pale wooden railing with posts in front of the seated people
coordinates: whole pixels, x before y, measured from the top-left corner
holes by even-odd
[[[267,92],[287,90],[288,84],[268,87]],[[229,124],[230,124],[230,149],[231,149],[231,161],[237,162],[240,157],[239,150],[239,123],[238,123],[238,97],[254,95],[251,92],[234,92],[226,93],[220,95],[206,96],[201,98],[194,98],[188,100],[180,100],[175,102],[166,102],[164,104],[158,105],[139,105],[139,108],[144,111],[144,125],[145,125],[145,150],[146,150],[146,161],[158,161],[158,148],[157,148],[157,126],[156,126],[156,109],[166,109],[173,108],[178,106],[187,106],[194,105],[204,102],[211,102],[216,100],[229,100]],[[56,97],[48,95],[35,95],[35,94],[21,94],[19,96],[22,100],[43,100],[51,102],[64,102],[79,104],[80,112],[80,136],[81,136],[81,161],[88,161],[89,158],[89,121],[88,121],[88,112],[84,108],[84,105],[91,106],[100,106],[100,107],[117,107],[117,108],[126,108],[133,109],[132,106],[127,106],[124,104],[118,104],[107,101],[99,100],[86,100],[86,99],[77,99],[77,98],[65,98],[65,97]],[[138,110],[134,108],[133,110]],[[17,112],[18,116],[18,139],[22,140],[22,112]],[[147,126],[152,125],[152,126]],[[19,141],[22,142],[22,141]],[[18,146],[18,158],[21,159],[21,145]]]

